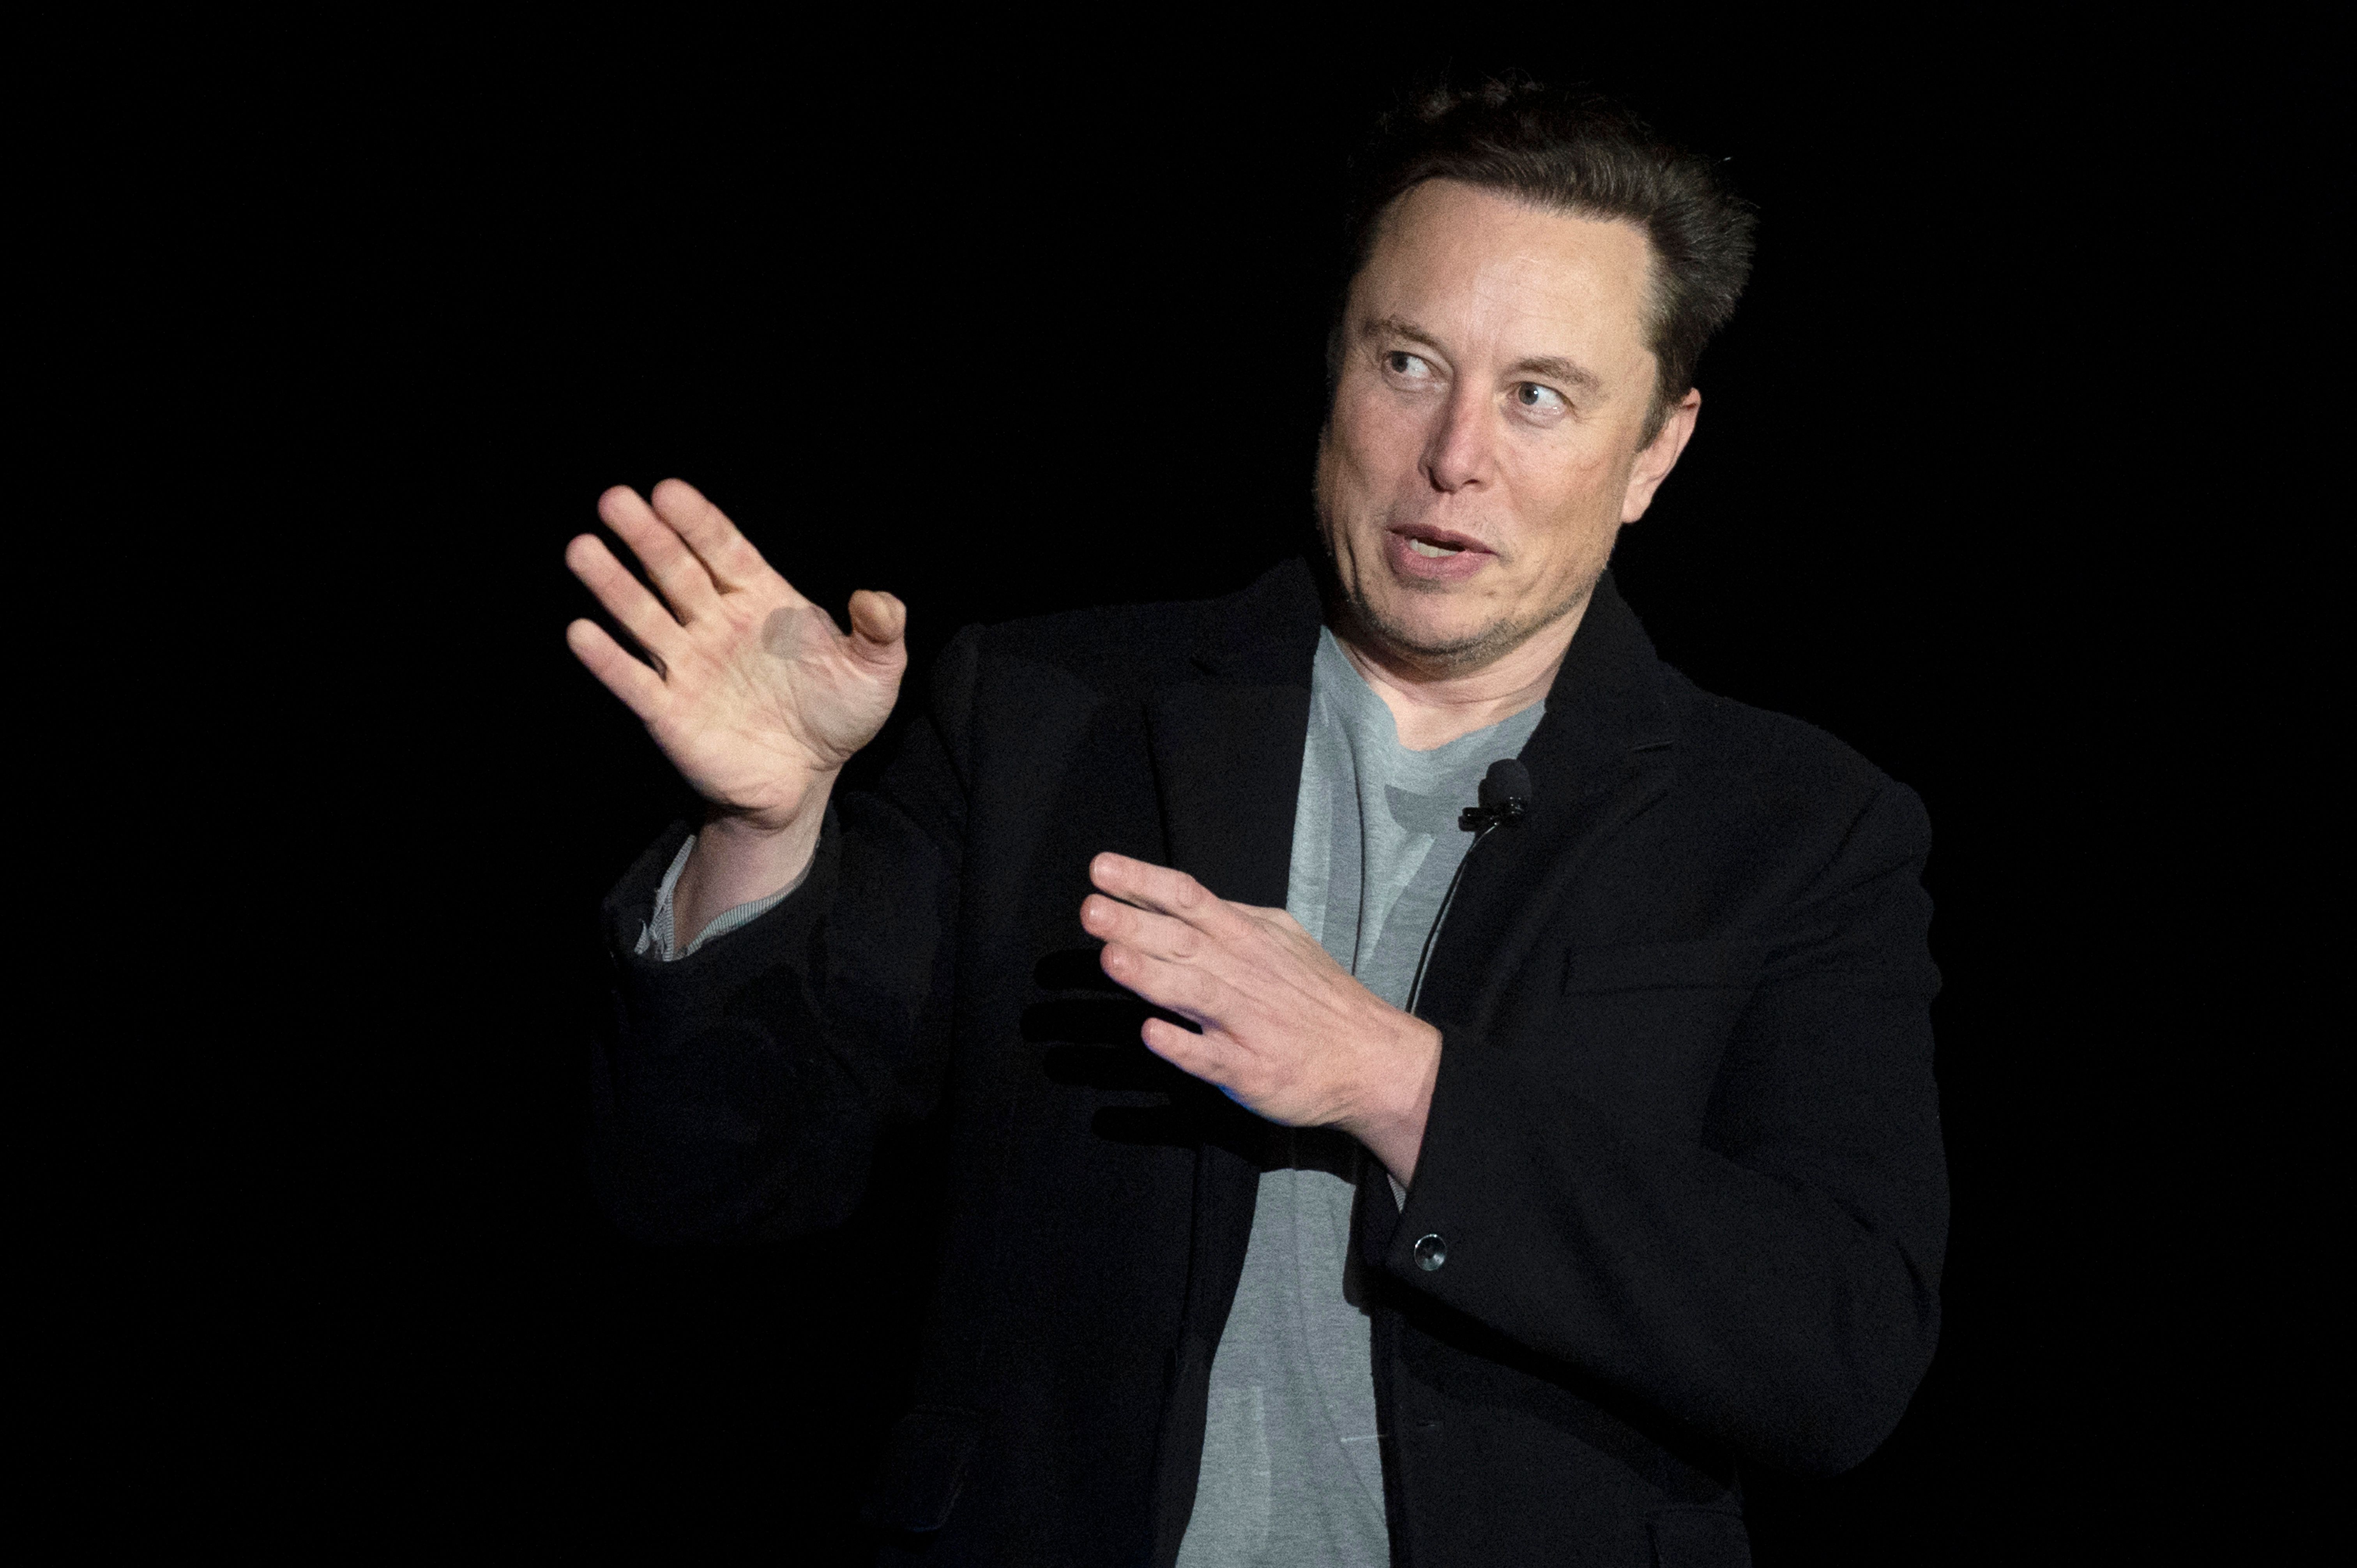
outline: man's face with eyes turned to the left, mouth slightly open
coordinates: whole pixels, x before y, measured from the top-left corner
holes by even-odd
[[[1466,674],[1586,604],[1699,396],[1640,446],[1650,243],[1433,179],[1384,219],[1343,309],[1318,521],[1376,651]]]

